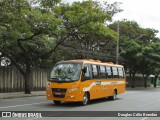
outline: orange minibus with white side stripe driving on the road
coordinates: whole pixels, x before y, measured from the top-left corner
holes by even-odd
[[[55,104],[81,102],[110,97],[115,100],[126,90],[122,65],[98,60],[68,60],[58,62],[52,69],[46,87],[48,100]]]

